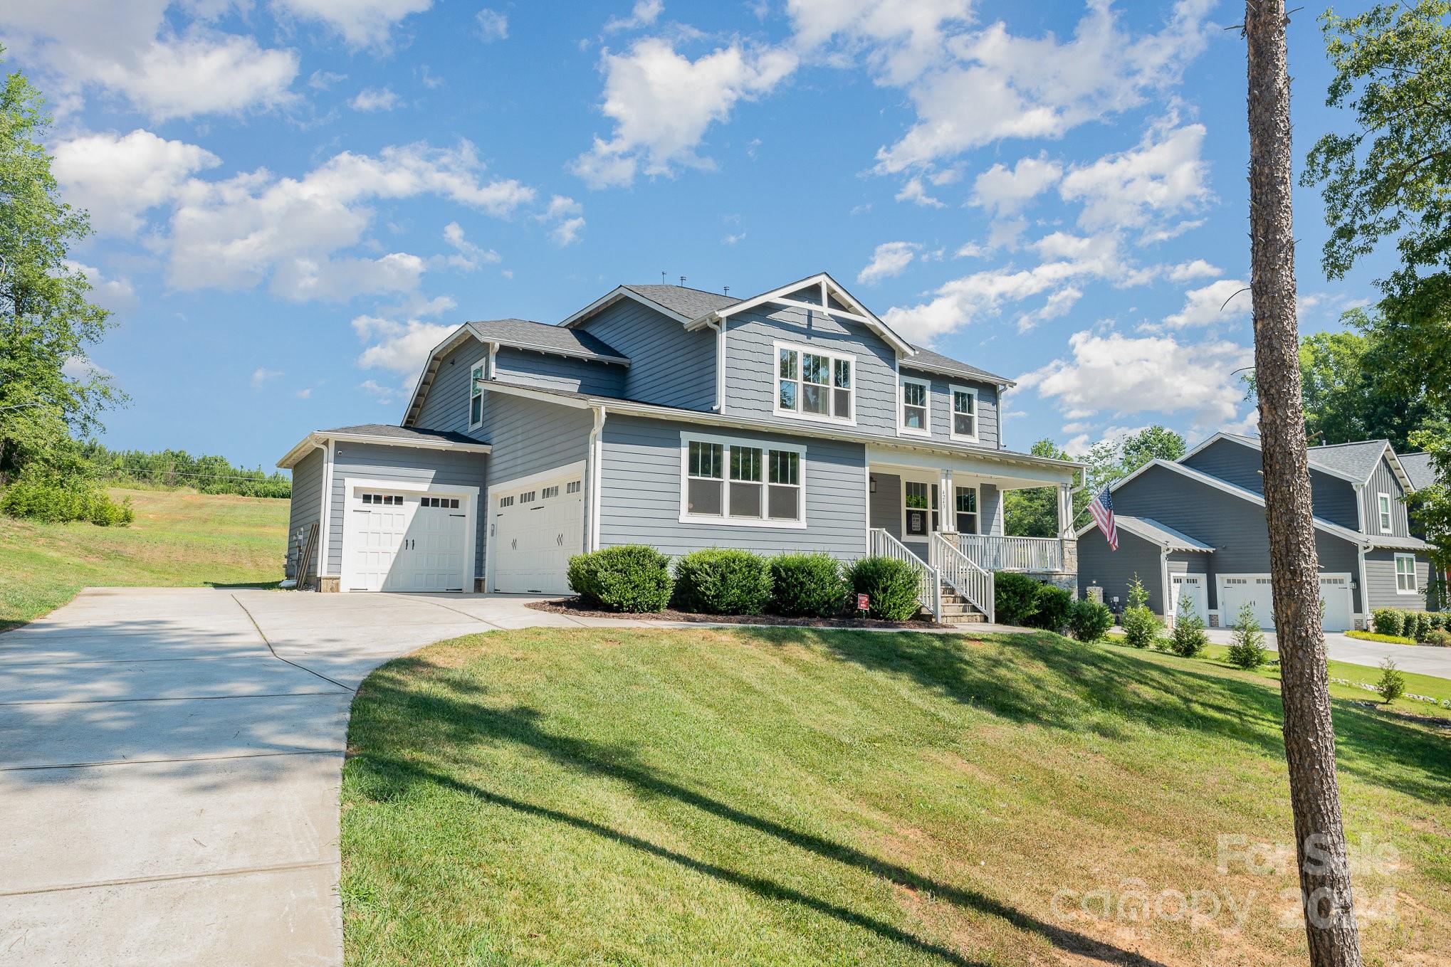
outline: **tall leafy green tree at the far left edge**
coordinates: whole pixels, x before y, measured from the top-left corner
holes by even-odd
[[[49,123],[41,93],[9,74],[0,87],[0,480],[32,464],[73,468],[74,436],[97,429],[102,410],[123,399],[107,374],[84,365],[107,313],[67,261],[90,222],[59,199],[42,146]]]

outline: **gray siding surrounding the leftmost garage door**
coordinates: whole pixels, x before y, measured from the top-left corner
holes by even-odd
[[[477,487],[480,502],[489,458],[450,449],[421,449],[416,447],[377,447],[373,444],[337,444],[332,454],[332,503],[328,528],[328,574],[342,574],[342,520],[347,513],[347,478],[361,477],[398,483],[444,484]],[[479,534],[476,551],[482,547],[483,518],[474,512]],[[482,563],[476,552],[474,573]],[[469,589],[473,590],[473,589]]]

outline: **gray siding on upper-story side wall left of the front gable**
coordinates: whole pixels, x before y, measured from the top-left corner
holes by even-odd
[[[630,357],[622,394],[641,403],[708,410],[715,406],[715,332],[686,332],[669,316],[621,299],[582,326]]]

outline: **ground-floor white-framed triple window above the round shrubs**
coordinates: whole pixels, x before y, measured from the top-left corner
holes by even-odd
[[[681,435],[681,522],[805,526],[805,448]]]

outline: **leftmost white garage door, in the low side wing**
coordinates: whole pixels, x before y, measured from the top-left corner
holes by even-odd
[[[461,592],[469,497],[358,486],[342,536],[350,592]]]

